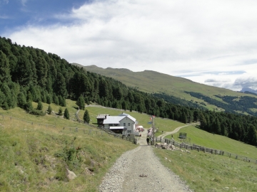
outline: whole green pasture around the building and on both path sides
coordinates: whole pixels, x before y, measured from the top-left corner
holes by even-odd
[[[69,103],[70,115],[70,110],[74,109],[73,112],[76,112],[75,103],[70,100],[67,103]],[[36,104],[34,105],[36,106]],[[44,105],[44,109],[47,106]],[[52,108],[59,109],[55,105]],[[103,107],[86,107],[86,110],[89,110],[91,124],[96,122],[95,117],[99,113],[117,115],[124,112]],[[129,142],[108,135],[101,136],[93,134],[93,132],[84,134],[81,131],[76,133],[70,132],[69,129],[62,129],[64,126],[85,127],[85,125],[56,118],[53,115],[35,117],[26,114],[19,108],[9,111],[1,110],[0,113],[12,117],[19,116],[21,119],[33,122],[56,124],[56,128],[51,128],[38,124],[31,125],[15,119],[10,121],[9,118],[2,119],[0,116],[0,161],[2,162],[0,191],[96,191],[97,186],[101,183],[101,178],[115,159],[124,151],[135,147]],[[150,124],[147,124],[150,120],[147,114],[129,111],[126,113],[135,117],[143,127],[151,127]],[[84,111],[81,111],[79,116],[82,118],[83,114]],[[164,132],[173,131],[176,127],[184,125],[161,118],[156,118],[155,122],[156,127]],[[256,147],[226,137],[208,134],[196,127],[185,127],[181,129],[181,132],[187,132],[192,143],[257,159]],[[84,155],[81,154],[84,159],[81,168],[72,166],[78,178],[69,182],[58,181],[54,177],[56,175],[64,176],[66,164],[56,158],[54,154],[62,151],[65,141],[71,142],[75,136],[77,139],[74,146],[81,146],[84,152]],[[173,137],[176,139],[177,134],[173,134]],[[225,187],[229,187],[226,191],[256,190],[256,164],[197,151],[186,154],[180,151],[155,149],[155,152],[165,166],[186,180],[195,191],[223,191]],[[94,176],[85,171],[86,167],[94,170]],[[21,171],[24,172],[21,173]]]

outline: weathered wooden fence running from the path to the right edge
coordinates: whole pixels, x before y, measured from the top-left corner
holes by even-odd
[[[221,151],[218,149],[211,149],[205,146],[198,146],[196,144],[184,144],[184,143],[179,143],[175,142],[173,139],[162,139],[161,137],[156,137],[155,142],[165,142],[166,144],[173,144],[173,146],[177,146],[179,148],[184,148],[184,149],[191,149],[191,150],[196,150],[196,151],[203,151],[203,153],[209,153],[209,154],[216,154],[216,155],[222,155],[222,156],[228,156],[229,158],[233,159],[238,159],[241,161],[246,161],[246,162],[251,162],[254,164],[257,164],[257,159],[251,159],[248,158],[247,156],[240,156],[238,154],[231,154],[226,151]]]

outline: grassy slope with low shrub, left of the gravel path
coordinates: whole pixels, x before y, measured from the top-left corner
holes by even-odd
[[[68,107],[70,115],[73,113],[71,106]],[[44,105],[44,109],[47,107]],[[59,109],[56,105],[52,107]],[[63,127],[93,128],[54,115],[36,117],[18,107],[0,110],[0,113],[5,115],[4,119],[0,116],[0,191],[98,191],[101,178],[114,161],[124,151],[136,147],[108,134],[94,131],[89,134],[82,129],[70,132]],[[43,124],[55,124],[56,127]],[[74,137],[76,140],[71,144]],[[78,154],[81,162],[76,156],[69,163],[61,156],[54,156],[64,154],[66,142],[69,147],[81,147]],[[67,181],[66,167],[78,176],[74,181]]]

